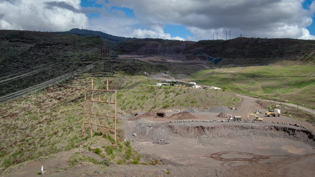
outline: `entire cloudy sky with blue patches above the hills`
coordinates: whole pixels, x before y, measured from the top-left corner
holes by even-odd
[[[183,41],[315,39],[313,0],[0,0],[0,29]]]

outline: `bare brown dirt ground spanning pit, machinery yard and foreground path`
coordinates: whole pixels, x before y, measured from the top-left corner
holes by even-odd
[[[166,117],[147,113],[139,118],[124,117],[126,136],[144,155],[143,161],[157,158],[161,165],[115,165],[110,167],[82,163],[71,167],[67,159],[78,149],[55,157],[24,163],[10,168],[3,176],[305,176],[315,172],[315,127],[289,117],[265,117],[255,99],[242,97],[237,110],[226,115],[263,112],[263,123],[222,122],[219,112],[166,112]],[[174,110],[173,110],[174,111]],[[202,110],[200,110],[202,111]],[[187,119],[176,120],[185,115]],[[243,118],[244,119],[244,118]],[[249,120],[254,117],[249,117]],[[220,121],[209,121],[220,120]],[[269,123],[268,123],[269,122]],[[275,122],[275,123],[272,123]],[[279,122],[279,123],[277,123]],[[283,124],[287,123],[287,124]],[[304,125],[307,128],[288,125]],[[132,136],[137,133],[138,136]],[[83,151],[83,152],[82,152]],[[95,154],[87,154],[95,156]],[[151,158],[152,157],[152,158]],[[150,159],[151,158],[151,159]],[[169,170],[170,174],[167,174]]]

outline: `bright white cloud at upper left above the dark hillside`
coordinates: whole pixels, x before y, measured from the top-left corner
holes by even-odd
[[[2,0],[0,9],[1,29],[68,31],[89,23],[80,0]]]

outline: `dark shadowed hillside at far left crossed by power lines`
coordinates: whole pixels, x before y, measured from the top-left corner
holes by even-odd
[[[0,30],[0,96],[101,60],[100,37]]]

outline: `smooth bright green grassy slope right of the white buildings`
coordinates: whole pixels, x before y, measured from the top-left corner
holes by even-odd
[[[254,97],[305,104],[315,108],[315,71],[312,65],[250,66],[199,71],[193,81],[226,87]]]

